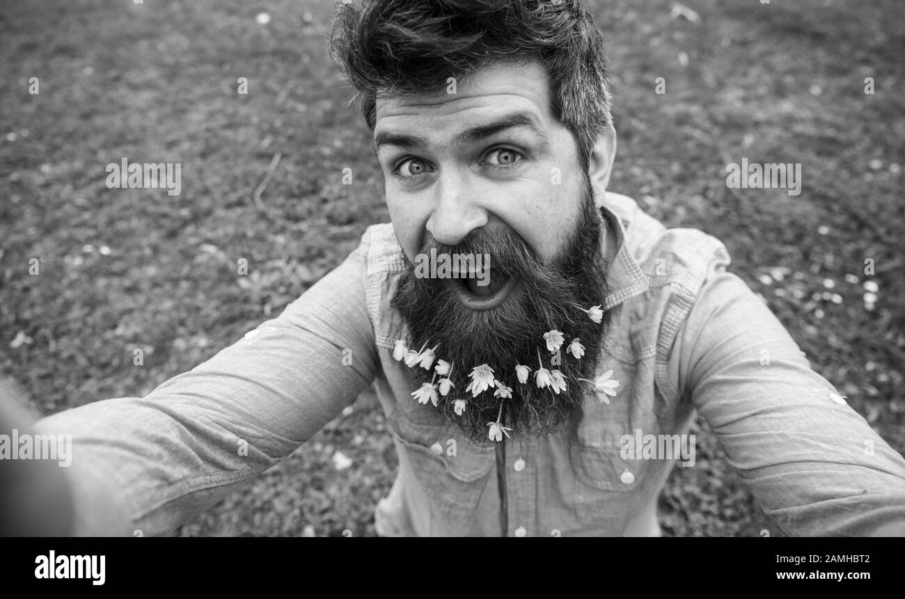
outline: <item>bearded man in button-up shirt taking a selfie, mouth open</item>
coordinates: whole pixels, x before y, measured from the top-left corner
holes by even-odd
[[[723,244],[606,191],[616,137],[584,2],[344,3],[329,49],[392,223],[191,372],[37,423],[72,435],[77,532],[167,534],[373,385],[399,455],[384,535],[657,536],[696,413],[787,534],[905,534],[905,461]]]

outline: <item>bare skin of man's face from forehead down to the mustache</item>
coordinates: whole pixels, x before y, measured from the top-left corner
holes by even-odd
[[[548,87],[538,62],[499,62],[456,81],[456,93],[377,101],[386,204],[409,260],[430,239],[455,245],[481,227],[556,256],[575,231],[584,172]]]

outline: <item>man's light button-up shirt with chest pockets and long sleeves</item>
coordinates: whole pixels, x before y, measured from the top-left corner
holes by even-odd
[[[786,534],[905,535],[905,460],[726,271],[725,246],[666,229],[624,195],[597,204],[614,244],[601,248],[612,317],[596,372],[619,385],[612,397],[586,393],[562,432],[476,444],[417,403],[392,357],[405,338],[390,307],[402,250],[392,226],[376,224],[279,317],[205,363],[144,398],[37,424],[72,435],[79,532],[167,534],[373,385],[399,456],[376,509],[382,534],[659,535],[656,502],[675,460],[626,455],[621,440],[686,434],[700,412]],[[125,521],[91,508],[110,499]]]

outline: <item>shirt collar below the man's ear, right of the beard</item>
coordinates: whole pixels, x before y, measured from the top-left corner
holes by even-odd
[[[606,283],[609,293],[606,295],[603,305],[605,310],[615,308],[626,299],[633,298],[650,287],[647,275],[634,260],[628,243],[625,242],[623,219],[616,214],[616,212],[624,212],[624,210],[620,210],[622,206],[619,204],[620,201],[624,202],[623,198],[632,202],[629,198],[617,194],[605,194],[604,198],[598,195],[595,198],[595,203],[604,214],[607,223],[603,242],[608,245],[609,236],[614,235],[617,248],[615,257],[608,255],[606,247],[601,248],[608,261]],[[635,208],[637,208],[637,204],[635,204]]]

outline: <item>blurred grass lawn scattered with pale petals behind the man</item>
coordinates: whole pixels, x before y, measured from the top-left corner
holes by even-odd
[[[612,59],[611,189],[725,242],[814,368],[905,452],[905,4],[688,0],[691,18],[673,4],[593,3]],[[388,220],[370,132],[326,56],[331,11],[0,5],[0,368],[34,414],[147,394],[278,314]],[[181,195],[108,189],[121,157],[181,162]],[[728,189],[742,157],[801,163],[801,195]],[[181,534],[374,535],[396,466],[383,422],[363,395]],[[706,424],[693,432],[697,464],[673,471],[664,534],[781,534]],[[352,465],[337,471],[336,452]]]

